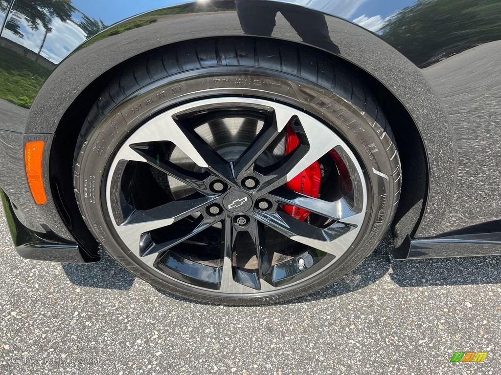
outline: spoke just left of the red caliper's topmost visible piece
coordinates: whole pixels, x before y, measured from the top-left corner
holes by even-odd
[[[282,108],[274,108],[273,115],[266,116],[261,131],[234,162],[235,175],[238,181],[243,177],[243,173],[254,167],[255,161],[280,134],[292,116],[292,113]]]

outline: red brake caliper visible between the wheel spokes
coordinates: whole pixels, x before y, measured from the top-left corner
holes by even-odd
[[[291,126],[287,126],[287,142],[285,153],[288,154],[292,152],[298,145],[298,136]],[[286,187],[290,190],[318,198],[321,178],[322,174],[320,172],[320,163],[318,161],[315,161],[308,168],[306,168],[296,177],[287,182]],[[294,216],[301,221],[305,221],[311,213],[304,208],[296,207],[293,205],[285,205],[284,210],[291,216]]]

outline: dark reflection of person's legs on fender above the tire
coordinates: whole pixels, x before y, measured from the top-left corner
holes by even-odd
[[[260,0],[235,0],[236,12],[245,34],[271,36],[278,12],[287,19],[305,43],[319,46],[334,53],[339,47],[329,36],[325,15],[315,10],[285,3],[271,3]]]

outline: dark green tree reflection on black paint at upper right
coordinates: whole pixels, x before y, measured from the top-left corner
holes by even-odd
[[[501,39],[499,0],[418,0],[378,32],[419,67]]]

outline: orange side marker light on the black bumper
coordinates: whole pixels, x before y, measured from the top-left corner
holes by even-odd
[[[25,146],[25,164],[26,175],[30,190],[37,204],[45,204],[47,195],[44,188],[44,179],[42,174],[42,156],[44,154],[43,140],[34,140],[27,142]]]

